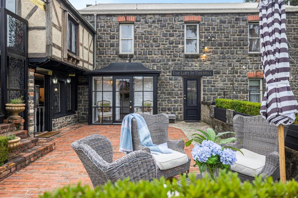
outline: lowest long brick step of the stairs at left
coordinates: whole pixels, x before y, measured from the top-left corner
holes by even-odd
[[[0,181],[14,174],[16,171],[24,168],[28,164],[38,158],[46,155],[55,149],[54,143],[40,143],[38,146],[33,146],[18,153],[18,158],[15,158],[0,167]]]

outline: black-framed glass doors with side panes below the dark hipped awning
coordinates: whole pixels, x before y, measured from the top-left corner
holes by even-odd
[[[90,78],[89,124],[122,123],[130,113],[157,113],[157,76]]]

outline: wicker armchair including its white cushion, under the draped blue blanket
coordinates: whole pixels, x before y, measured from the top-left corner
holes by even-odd
[[[175,153],[162,153],[153,155],[157,164],[157,178],[164,176],[165,178],[179,175],[180,173],[189,172],[190,158],[184,152],[184,142],[182,140],[169,140],[168,126],[169,118],[166,114],[157,115],[140,114],[148,126],[153,144],[162,144],[167,142],[168,148],[176,151]],[[136,119],[131,121],[131,133],[134,151],[147,151],[148,147],[144,147],[140,143],[138,125]]]

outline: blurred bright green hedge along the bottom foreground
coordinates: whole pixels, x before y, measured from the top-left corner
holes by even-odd
[[[154,182],[139,181],[131,183],[128,180],[118,181],[114,185],[107,183],[104,186],[92,189],[89,186],[65,186],[54,192],[45,192],[41,198],[168,198],[168,197],[214,197],[214,198],[292,198],[298,195],[298,183],[289,180],[286,184],[274,183],[269,177],[264,182],[260,177],[254,180],[254,184],[246,181],[240,186],[237,173],[220,172],[217,181],[203,178],[195,180],[195,175],[190,174],[192,183],[185,184],[185,176],[182,177],[183,187],[171,183],[164,178]],[[164,183],[167,186],[164,186]],[[177,193],[178,192],[178,193]],[[172,195],[172,196],[170,196]]]

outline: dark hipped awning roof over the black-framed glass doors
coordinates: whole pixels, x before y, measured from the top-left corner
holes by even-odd
[[[84,72],[86,75],[122,75],[122,74],[160,74],[160,71],[148,69],[142,63],[110,63],[108,66]]]

